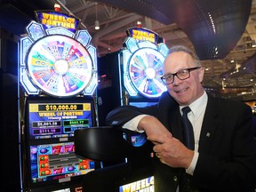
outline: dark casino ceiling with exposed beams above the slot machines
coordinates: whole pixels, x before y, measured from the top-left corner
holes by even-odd
[[[99,57],[122,49],[126,29],[140,21],[164,37],[167,46],[195,49],[206,69],[207,91],[256,100],[256,0],[2,0],[0,28],[21,36],[36,20],[34,11],[53,9],[55,3],[81,20]]]

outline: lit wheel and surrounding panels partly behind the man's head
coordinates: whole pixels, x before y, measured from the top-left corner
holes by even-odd
[[[138,96],[138,92],[147,98],[158,98],[166,91],[161,80],[164,75],[164,57],[168,53],[165,44],[136,42],[128,38],[127,50],[123,52],[124,87],[130,96]]]

